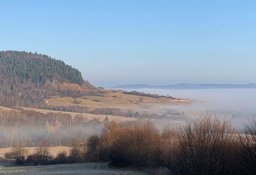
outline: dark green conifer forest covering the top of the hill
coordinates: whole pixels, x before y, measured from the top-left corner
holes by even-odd
[[[79,70],[66,65],[61,60],[53,59],[47,55],[31,52],[1,51],[0,74],[5,78],[15,78],[21,82],[43,82],[46,80],[83,84]]]

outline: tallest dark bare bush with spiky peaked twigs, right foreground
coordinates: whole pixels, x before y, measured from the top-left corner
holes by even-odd
[[[177,170],[181,174],[229,174],[233,140],[230,121],[203,113],[180,131]]]

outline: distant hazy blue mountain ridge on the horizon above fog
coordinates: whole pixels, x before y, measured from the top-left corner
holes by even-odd
[[[188,84],[188,83],[179,83],[174,85],[119,85],[111,88],[123,88],[123,89],[254,89],[256,88],[255,83],[249,84]]]

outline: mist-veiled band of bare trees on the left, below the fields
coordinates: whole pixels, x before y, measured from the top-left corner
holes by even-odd
[[[46,113],[35,111],[8,111],[0,113],[0,148],[15,145],[37,146],[41,140],[48,140],[51,146],[67,146],[70,138],[86,139],[97,133],[103,123],[97,119],[88,120],[82,115]]]

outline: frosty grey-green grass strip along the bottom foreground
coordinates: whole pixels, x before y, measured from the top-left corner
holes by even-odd
[[[44,165],[27,167],[0,167],[0,174],[18,175],[144,175],[143,173],[128,170],[109,168],[106,163],[76,163],[62,165]]]

